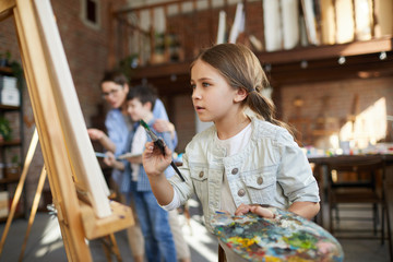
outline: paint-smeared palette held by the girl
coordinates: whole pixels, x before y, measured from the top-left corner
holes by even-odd
[[[291,212],[267,209],[274,218],[217,213],[214,234],[249,261],[344,261],[340,242],[325,229]]]

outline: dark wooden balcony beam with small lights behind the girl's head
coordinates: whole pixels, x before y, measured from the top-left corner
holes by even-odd
[[[386,59],[380,60],[381,51],[386,52]],[[267,75],[272,85],[275,86],[332,79],[390,76],[393,75],[392,55],[392,36],[347,44],[255,52],[262,64],[271,64]],[[347,57],[345,64],[337,63],[341,56]],[[300,67],[302,60],[308,62],[307,68]],[[147,79],[150,83],[158,86],[162,96],[190,93],[189,88],[184,88],[190,82],[190,63],[191,61],[180,61],[135,68],[132,71],[132,83],[140,83],[143,79]],[[176,75],[176,81],[171,80],[171,75]]]

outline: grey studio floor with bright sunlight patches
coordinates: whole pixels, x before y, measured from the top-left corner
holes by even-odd
[[[206,231],[201,223],[200,207],[196,201],[190,200],[191,221],[190,226],[184,222],[184,217],[180,215],[183,224],[183,234],[191,249],[191,260],[193,262],[213,262],[217,261],[217,240],[214,236]],[[4,230],[5,223],[0,224],[0,234]],[[348,224],[344,227],[350,226]],[[17,261],[23,239],[27,228],[27,219],[15,219],[10,228],[5,239],[4,248],[0,257],[0,262]],[[124,231],[116,234],[116,239],[120,249],[122,261],[132,262],[132,254],[128,247],[127,236]],[[361,240],[361,239],[340,239],[347,262],[385,262],[390,261],[388,242],[381,246],[379,240]],[[103,246],[99,240],[90,242],[90,248],[95,262],[107,261]],[[63,242],[61,239],[60,228],[56,217],[51,217],[48,213],[37,213],[33,224],[27,246],[24,252],[23,261],[28,262],[62,262],[67,261]],[[116,261],[115,257],[112,261]]]

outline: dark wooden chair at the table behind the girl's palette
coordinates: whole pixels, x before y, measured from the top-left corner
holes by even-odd
[[[381,156],[337,156],[332,158],[327,165],[327,198],[329,198],[329,217],[330,231],[335,235],[335,224],[341,219],[358,219],[359,217],[341,217],[340,211],[343,211],[341,204],[360,204],[372,206],[373,235],[362,236],[367,238],[377,238],[380,231],[381,245],[384,243],[385,223],[388,224],[389,251],[393,259],[391,248],[391,226],[385,200],[385,165]],[[381,216],[379,215],[381,210]],[[335,217],[333,216],[335,211]],[[378,225],[381,221],[381,229]],[[336,223],[335,223],[336,222]],[[346,231],[358,231],[346,226]],[[361,230],[364,231],[364,230]],[[340,237],[340,236],[336,236]],[[361,236],[353,236],[359,238]]]

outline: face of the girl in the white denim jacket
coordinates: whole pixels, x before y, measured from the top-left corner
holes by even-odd
[[[238,91],[229,86],[218,70],[198,60],[191,69],[192,103],[201,121],[222,121],[234,117]]]

